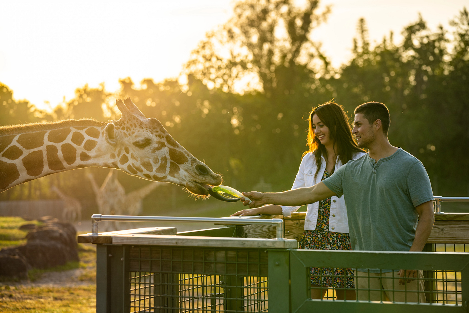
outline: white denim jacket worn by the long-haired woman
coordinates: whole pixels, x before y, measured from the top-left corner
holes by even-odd
[[[359,152],[355,153],[352,159],[356,160],[366,153]],[[293,189],[311,187],[321,181],[325,171],[325,159],[321,157],[321,168],[319,168],[318,176],[316,179],[316,160],[312,153],[308,153],[303,157],[300,164],[298,174],[296,174],[295,182],[293,183]],[[340,168],[342,162],[339,157],[335,163],[335,170]],[[291,217],[292,212],[298,210],[301,206],[281,206],[282,214],[286,217]],[[318,221],[319,202],[311,203],[308,205],[306,218],[304,220],[304,230],[316,229],[316,223]],[[337,198],[333,196],[331,198],[331,212],[329,214],[329,231],[337,233],[348,233],[348,219],[347,219],[347,208],[345,207],[344,197]]]

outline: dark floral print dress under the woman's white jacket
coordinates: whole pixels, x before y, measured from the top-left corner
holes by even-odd
[[[327,177],[329,173],[325,170],[321,181]],[[300,249],[352,250],[348,233],[329,231],[330,212],[331,198],[319,201],[316,229],[304,231],[300,240]],[[351,268],[311,267],[311,284],[333,288],[355,288],[353,270]]]

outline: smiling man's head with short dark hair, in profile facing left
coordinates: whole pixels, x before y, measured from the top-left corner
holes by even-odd
[[[367,102],[356,107],[352,133],[361,148],[369,148],[378,136],[387,139],[391,117],[389,110],[380,102]]]

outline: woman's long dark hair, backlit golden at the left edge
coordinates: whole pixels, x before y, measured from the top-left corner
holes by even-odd
[[[319,119],[329,128],[329,139],[335,143],[335,147],[337,148],[336,152],[342,164],[346,164],[349,160],[352,160],[354,153],[364,152],[353,140],[347,114],[344,112],[342,106],[329,101],[313,108],[308,118],[310,127],[308,130],[307,145],[309,150],[305,151],[303,156],[311,152],[315,157],[317,169],[314,179],[318,176],[319,169],[321,168],[321,156],[324,156],[327,160],[325,145],[321,144],[318,137],[314,134],[312,127],[312,119],[315,114],[318,115]]]

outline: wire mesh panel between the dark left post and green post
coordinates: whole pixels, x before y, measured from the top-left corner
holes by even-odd
[[[268,252],[133,246],[130,312],[267,312]]]

